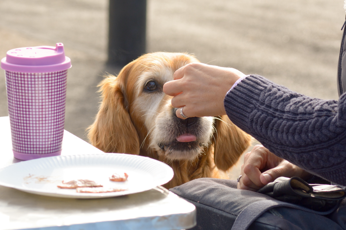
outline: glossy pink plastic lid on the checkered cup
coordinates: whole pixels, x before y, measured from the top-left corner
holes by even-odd
[[[47,73],[71,67],[63,43],[54,46],[23,47],[7,51],[1,68],[12,72]]]

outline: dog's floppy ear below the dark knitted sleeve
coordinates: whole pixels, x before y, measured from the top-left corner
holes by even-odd
[[[219,117],[220,118],[220,117]],[[221,170],[228,170],[250,146],[252,137],[239,129],[224,115],[215,123],[214,162]]]

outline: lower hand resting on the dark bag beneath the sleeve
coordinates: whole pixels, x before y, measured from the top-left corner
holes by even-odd
[[[298,166],[277,157],[262,145],[256,145],[244,156],[238,189],[257,191],[278,177],[308,179],[311,174]]]

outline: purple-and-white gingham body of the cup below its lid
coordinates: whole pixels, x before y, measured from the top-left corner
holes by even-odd
[[[51,73],[5,72],[12,149],[26,154],[60,151],[67,70]]]

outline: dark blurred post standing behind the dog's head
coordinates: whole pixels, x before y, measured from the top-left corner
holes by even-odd
[[[109,0],[108,62],[125,66],[145,53],[146,0]]]

